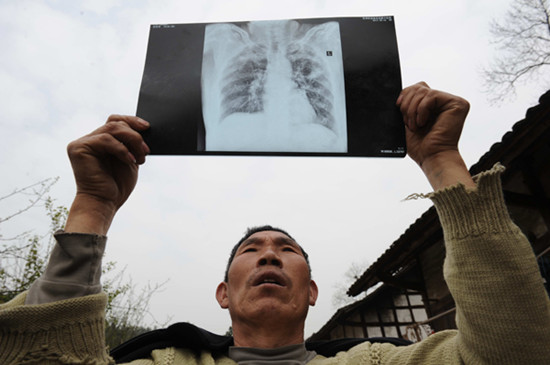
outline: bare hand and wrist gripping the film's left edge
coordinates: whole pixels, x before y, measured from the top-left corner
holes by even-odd
[[[138,164],[150,152],[139,134],[147,128],[149,123],[138,117],[111,115],[105,125],[68,145],[76,197],[66,232],[107,233],[136,185]]]

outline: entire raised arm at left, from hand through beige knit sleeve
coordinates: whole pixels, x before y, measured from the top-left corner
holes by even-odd
[[[101,258],[105,234],[149,153],[139,134],[147,128],[140,118],[111,115],[69,144],[77,189],[65,231],[56,232],[41,277],[0,305],[0,363],[113,363],[105,348]]]

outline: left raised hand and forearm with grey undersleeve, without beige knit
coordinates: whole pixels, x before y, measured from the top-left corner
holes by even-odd
[[[149,153],[139,134],[148,127],[138,117],[111,115],[103,126],[69,144],[76,196],[65,230],[56,232],[48,266],[31,285],[26,304],[101,291],[105,235],[136,185],[138,164]]]

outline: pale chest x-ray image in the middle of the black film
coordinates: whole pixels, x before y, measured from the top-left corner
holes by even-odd
[[[339,24],[209,24],[201,72],[206,151],[347,152]]]

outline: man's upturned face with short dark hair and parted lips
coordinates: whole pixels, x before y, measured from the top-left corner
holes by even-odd
[[[317,286],[298,244],[276,231],[254,233],[237,249],[216,298],[235,321],[304,321]]]

